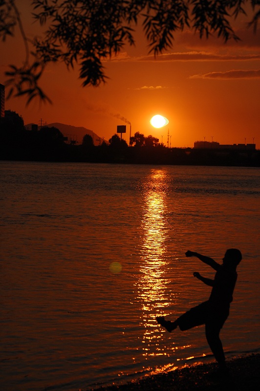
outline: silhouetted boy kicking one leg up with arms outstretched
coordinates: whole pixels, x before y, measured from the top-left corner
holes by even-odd
[[[205,325],[207,342],[216,358],[219,369],[226,371],[225,355],[219,332],[229,315],[229,307],[233,301],[233,291],[238,277],[236,268],[242,259],[242,255],[239,250],[231,248],[226,251],[222,265],[212,258],[194,251],[187,251],[185,255],[186,257],[197,257],[216,270],[214,280],[202,277],[198,272],[194,272],[194,277],[206,285],[212,286],[209,300],[191,308],[174,322],[165,320],[163,316],[157,317],[156,320],[169,332],[172,332],[177,326],[184,331],[195,326]]]

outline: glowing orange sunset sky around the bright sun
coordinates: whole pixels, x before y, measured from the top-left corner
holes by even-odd
[[[21,1],[28,4],[28,1]],[[20,6],[20,1],[18,2]],[[36,25],[28,19],[24,5],[22,18],[28,34]],[[27,6],[28,7],[28,6]],[[27,22],[27,23],[26,23]],[[173,49],[154,60],[137,28],[136,46],[126,47],[115,59],[105,63],[107,84],[81,87],[77,71],[65,65],[48,66],[41,86],[53,104],[35,101],[25,107],[25,100],[6,101],[5,109],[22,115],[24,123],[60,122],[84,126],[109,139],[117,125],[131,123],[136,131],[152,134],[172,147],[193,147],[197,140],[220,144],[254,143],[260,148],[260,30],[254,34],[240,17],[239,43],[199,40],[193,32],[175,35]],[[8,38],[0,43],[0,83],[8,64],[20,65],[24,58],[22,40]],[[161,114],[169,125],[155,129],[150,119]],[[120,119],[121,118],[121,119]],[[123,138],[129,142],[130,126]],[[212,138],[213,137],[213,138]]]

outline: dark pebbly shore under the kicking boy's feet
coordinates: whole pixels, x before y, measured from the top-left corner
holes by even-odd
[[[144,376],[123,385],[87,391],[255,391],[260,384],[260,353],[227,360],[228,376],[217,372],[217,363],[195,364],[170,372]]]

